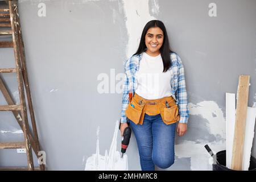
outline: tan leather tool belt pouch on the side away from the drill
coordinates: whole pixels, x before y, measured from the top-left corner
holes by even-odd
[[[160,115],[166,125],[171,125],[172,123],[180,120],[179,109],[176,104],[170,105],[168,108],[164,106],[160,109],[160,111]]]

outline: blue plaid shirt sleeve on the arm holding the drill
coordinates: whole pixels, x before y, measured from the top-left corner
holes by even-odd
[[[130,77],[130,61],[127,60],[125,63],[125,78],[123,80],[123,97],[122,97],[122,111],[121,111],[121,123],[127,122],[125,110],[129,104],[129,77]]]

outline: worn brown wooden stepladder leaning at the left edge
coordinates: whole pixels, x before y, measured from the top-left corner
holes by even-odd
[[[8,8],[9,7],[9,8]],[[6,9],[0,9],[0,48],[13,47],[14,48],[14,57],[15,57],[15,65],[16,68],[0,68],[0,73],[16,73],[16,78],[18,81],[18,90],[19,90],[19,99],[20,104],[15,105],[13,98],[11,98],[10,92],[7,90],[7,87],[3,80],[0,77],[0,90],[5,97],[5,100],[8,105],[1,105],[0,111],[12,111],[16,121],[19,123],[23,134],[24,134],[24,142],[7,142],[0,143],[0,149],[14,149],[14,148],[26,148],[27,155],[27,164],[28,168],[0,168],[2,170],[44,170],[45,165],[40,164],[40,168],[34,167],[34,162],[32,158],[32,150],[34,150],[38,159],[40,159],[41,155],[39,155],[40,144],[38,140],[38,133],[36,130],[36,122],[35,122],[35,114],[32,105],[31,92],[30,92],[30,84],[28,82],[25,55],[24,55],[24,43],[22,39],[22,31],[20,28],[20,20],[18,13],[18,1],[9,0],[9,5],[7,5]],[[3,29],[4,28],[4,29]],[[13,41],[1,41],[1,37],[6,38],[6,36],[10,36]],[[25,90],[26,89],[26,96]],[[32,123],[32,131],[30,131],[30,126],[28,124],[28,115],[27,115],[27,104],[30,111],[30,119]],[[32,148],[31,148],[32,147]]]

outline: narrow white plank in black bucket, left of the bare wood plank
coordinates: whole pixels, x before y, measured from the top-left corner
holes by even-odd
[[[236,94],[226,93],[226,167],[229,169],[231,169],[235,121]]]

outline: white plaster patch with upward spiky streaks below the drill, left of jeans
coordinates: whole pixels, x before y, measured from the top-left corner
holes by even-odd
[[[120,156],[120,152],[117,151],[117,134],[118,134],[119,122],[115,123],[114,136],[112,143],[108,151],[105,150],[105,155],[100,155],[100,139],[98,137],[100,128],[97,129],[97,143],[96,143],[96,154],[93,154],[86,160],[85,171],[127,171],[128,170],[128,158],[127,155]]]

